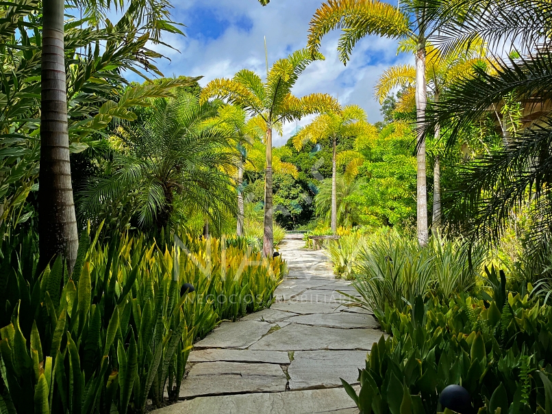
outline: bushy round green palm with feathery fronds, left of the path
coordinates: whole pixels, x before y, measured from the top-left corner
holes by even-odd
[[[225,170],[238,157],[231,135],[209,125],[212,103],[192,94],[155,99],[151,116],[123,124],[116,140],[123,152],[110,177],[96,179],[82,192],[79,212],[106,214],[110,203],[123,203],[142,228],[166,227],[177,202],[202,211],[213,222],[235,213],[236,201]]]

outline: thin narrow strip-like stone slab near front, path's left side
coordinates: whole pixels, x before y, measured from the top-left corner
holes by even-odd
[[[204,349],[190,352],[188,362],[249,362],[249,363],[290,363],[288,352],[250,351],[237,349]]]

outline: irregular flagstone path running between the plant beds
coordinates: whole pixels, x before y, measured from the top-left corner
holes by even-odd
[[[356,294],[335,279],[323,251],[288,239],[279,251],[289,276],[271,309],[224,322],[195,344],[180,398],[158,414],[358,413],[340,378],[357,384],[357,368],[381,337],[371,315],[347,308]],[[355,310],[356,309],[356,310]]]

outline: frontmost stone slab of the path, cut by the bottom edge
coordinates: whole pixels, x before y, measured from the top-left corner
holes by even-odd
[[[358,387],[355,387],[358,392]],[[342,388],[199,397],[152,411],[155,414],[349,414],[358,411]]]

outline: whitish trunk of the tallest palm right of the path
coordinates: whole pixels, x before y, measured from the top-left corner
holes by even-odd
[[[425,83],[425,42],[420,41],[416,52],[416,135],[418,138],[416,200],[417,200],[417,224],[418,242],[420,246],[427,245],[427,183],[425,172],[425,138],[423,136],[422,122],[425,118],[427,103]]]

